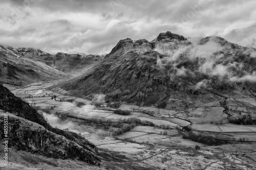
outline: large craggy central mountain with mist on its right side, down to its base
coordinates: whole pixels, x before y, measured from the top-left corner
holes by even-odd
[[[205,104],[217,100],[225,107],[240,87],[247,90],[240,95],[255,99],[256,50],[216,36],[193,40],[166,32],[151,42],[126,38],[99,64],[56,86],[138,106],[187,111],[203,95]]]

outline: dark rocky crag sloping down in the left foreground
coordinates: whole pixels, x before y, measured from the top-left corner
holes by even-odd
[[[78,159],[99,164],[97,148],[74,132],[51,127],[46,120],[26,102],[17,98],[0,84],[0,126],[3,127],[3,111],[8,112],[10,146],[18,150],[38,153],[50,158]],[[4,129],[0,136],[4,138]]]

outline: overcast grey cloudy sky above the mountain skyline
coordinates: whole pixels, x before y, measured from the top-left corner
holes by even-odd
[[[120,39],[221,36],[251,46],[255,0],[0,0],[0,44],[109,53]],[[256,42],[255,42],[256,46]]]

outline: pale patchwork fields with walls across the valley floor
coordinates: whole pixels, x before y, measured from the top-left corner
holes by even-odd
[[[57,119],[52,119],[51,117],[48,118],[49,123],[53,127],[57,126],[64,129],[68,126],[71,131],[77,133],[80,132],[82,136],[96,144],[99,149],[99,155],[105,152],[109,153],[109,156],[105,157],[106,159],[134,161],[133,163],[137,162],[138,164],[141,162],[150,165],[151,167],[156,167],[156,169],[159,167],[161,167],[161,169],[200,169],[202,167],[205,169],[207,169],[206,167],[209,167],[209,169],[216,169],[217,167],[222,169],[227,167],[231,169],[233,165],[242,167],[244,164],[248,164],[249,159],[255,160],[255,153],[247,154],[246,157],[248,157],[248,159],[232,154],[237,153],[238,151],[246,152],[248,150],[250,151],[250,149],[253,150],[253,148],[256,148],[253,143],[246,146],[244,144],[236,144],[236,149],[238,151],[233,151],[234,144],[220,145],[216,148],[209,147],[202,143],[183,139],[182,135],[178,133],[177,127],[182,128],[191,124],[189,122],[190,120],[193,123],[191,125],[193,130],[223,133],[234,136],[236,140],[256,140],[255,126],[227,124],[223,108],[220,107],[216,101],[209,100],[208,103],[204,105],[199,104],[202,101],[196,101],[200,107],[195,107],[186,111],[138,107],[123,104],[119,109],[132,111],[130,115],[124,116],[114,114],[113,111],[98,109],[91,105],[92,101],[69,96],[65,90],[46,89],[47,87],[51,87],[51,85],[53,84],[40,84],[40,86],[33,85],[18,89],[12,88],[12,92],[17,96],[24,98],[24,101],[35,103],[35,106],[41,108],[55,106],[55,108],[51,110],[51,113],[58,111],[81,116],[83,118],[96,117],[101,119],[111,119],[117,122],[123,118],[138,118],[155,124],[155,126],[135,126],[130,131],[117,136],[100,136],[103,133],[110,133],[110,130],[114,131],[119,128],[111,127],[108,130],[104,130],[103,127],[101,127],[94,132],[92,127],[79,127],[77,126],[77,123],[74,123],[82,122],[81,119],[70,118],[67,122],[58,125],[56,124]],[[26,98],[29,94],[33,95],[33,98]],[[36,95],[49,94],[50,96],[47,97],[35,97]],[[52,95],[57,96],[57,101],[51,99]],[[60,102],[58,101],[60,99],[64,101],[73,99],[74,102]],[[251,99],[246,100],[247,102],[252,102]],[[83,102],[84,106],[77,107],[76,102]],[[241,102],[244,102],[244,98]],[[233,109],[239,108],[235,107]],[[50,115],[51,114],[49,114],[49,116]],[[102,131],[102,134],[97,133],[96,131]],[[196,151],[196,145],[199,145],[201,149]],[[222,153],[224,150],[229,150],[228,154],[225,153],[223,155]],[[225,160],[225,163],[223,160]],[[112,162],[115,163],[115,161]]]

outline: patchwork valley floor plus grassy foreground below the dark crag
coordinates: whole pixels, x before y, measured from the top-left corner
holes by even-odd
[[[136,126],[129,132],[112,136],[107,131],[105,131],[106,133],[98,133],[104,129],[96,129],[92,133],[91,128],[79,126],[78,123],[81,120],[77,118],[71,118],[66,124],[61,124],[56,119],[52,119],[50,116],[52,114],[44,114],[51,126],[65,129],[69,124],[70,130],[81,133],[86,139],[94,143],[99,149],[99,156],[102,160],[101,167],[91,166],[76,160],[55,160],[39,155],[27,157],[25,155],[30,155],[29,153],[11,149],[9,169],[84,169],[84,167],[86,169],[256,169],[255,142],[209,146],[183,139],[182,135],[178,133],[177,127],[182,128],[189,125],[191,120],[185,118],[183,116],[185,113],[182,111],[158,109],[157,114],[149,115],[145,112],[156,108],[122,105],[121,109],[131,109],[132,114],[118,115],[111,110],[95,108],[92,101],[69,96],[65,90],[50,89],[49,87],[53,85],[54,82],[39,82],[25,88],[5,86],[16,96],[33,106],[41,108],[55,106],[51,113],[68,112],[81,117],[112,120],[136,117],[141,120],[149,120],[157,127]],[[56,95],[55,100],[52,100],[53,95]],[[86,106],[77,107],[74,103],[62,102],[69,99],[83,102]],[[162,128],[162,125],[165,128]],[[166,128],[167,125],[168,128]],[[196,131],[226,133],[237,137],[237,139],[244,137],[250,141],[256,141],[255,126],[193,123],[192,127]],[[199,145],[200,149],[196,150],[196,145]],[[0,167],[4,169],[1,164]]]

